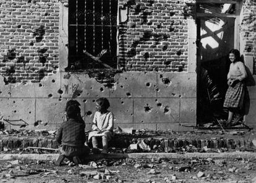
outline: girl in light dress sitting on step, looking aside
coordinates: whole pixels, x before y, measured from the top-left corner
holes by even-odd
[[[108,111],[109,101],[106,98],[98,98],[96,103],[96,113],[93,117],[92,132],[88,135],[88,140],[92,138],[94,150],[100,147],[102,142],[103,150],[101,153],[108,153],[108,142],[113,136],[114,115]]]

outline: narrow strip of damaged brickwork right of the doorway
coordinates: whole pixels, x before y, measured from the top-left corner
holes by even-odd
[[[241,36],[244,41],[244,55],[256,58],[256,1],[244,0],[241,21]],[[255,64],[255,62],[254,62]],[[254,74],[256,65],[254,65]]]

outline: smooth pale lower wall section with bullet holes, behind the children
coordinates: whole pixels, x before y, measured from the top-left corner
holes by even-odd
[[[115,80],[115,87],[108,88],[87,74],[58,72],[36,84],[4,85],[2,81],[1,101],[6,106],[1,117],[22,119],[29,124],[27,129],[57,129],[66,102],[73,98],[81,104],[90,130],[95,100],[106,97],[116,126],[182,130],[179,124],[195,125],[196,74],[126,72],[116,74]]]

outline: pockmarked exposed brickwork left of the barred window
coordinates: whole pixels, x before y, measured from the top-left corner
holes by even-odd
[[[58,0],[0,1],[0,74],[39,82],[59,67]]]

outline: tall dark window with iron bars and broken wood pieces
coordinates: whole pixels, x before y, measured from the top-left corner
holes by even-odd
[[[69,1],[69,68],[117,66],[117,0]]]

